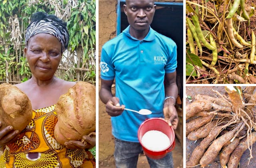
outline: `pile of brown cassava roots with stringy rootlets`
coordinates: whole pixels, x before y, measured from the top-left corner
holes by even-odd
[[[186,105],[186,137],[202,140],[186,161],[187,167],[207,167],[219,156],[222,167],[237,168],[245,150],[256,142],[256,87],[225,87],[227,95],[198,94]]]

